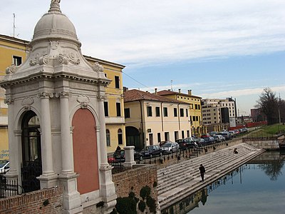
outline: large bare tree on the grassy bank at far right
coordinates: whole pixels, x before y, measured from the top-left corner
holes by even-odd
[[[269,125],[279,122],[279,99],[270,88],[264,88],[255,107],[266,115]]]

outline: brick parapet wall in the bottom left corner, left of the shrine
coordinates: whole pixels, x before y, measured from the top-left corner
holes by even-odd
[[[58,214],[63,211],[63,187],[15,195],[0,199],[1,214]]]

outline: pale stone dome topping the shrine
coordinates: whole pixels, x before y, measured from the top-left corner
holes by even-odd
[[[59,2],[51,1],[51,8],[35,26],[31,44],[39,40],[67,39],[80,44],[76,28],[68,17],[61,13]]]

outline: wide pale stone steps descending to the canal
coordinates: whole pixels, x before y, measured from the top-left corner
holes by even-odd
[[[234,154],[237,148],[238,154]],[[255,148],[247,143],[224,148],[204,156],[192,158],[157,170],[157,191],[160,210],[195,193],[214,180],[229,173],[240,165],[263,153],[265,150]],[[204,183],[199,175],[199,165],[206,168]]]

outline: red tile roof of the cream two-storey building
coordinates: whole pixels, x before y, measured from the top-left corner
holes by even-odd
[[[132,101],[158,101],[158,102],[167,102],[167,103],[184,103],[182,101],[177,101],[174,99],[166,98],[164,96],[159,96],[155,93],[149,93],[145,91],[139,91],[137,89],[132,89],[125,91],[124,93],[124,101],[132,102]]]

